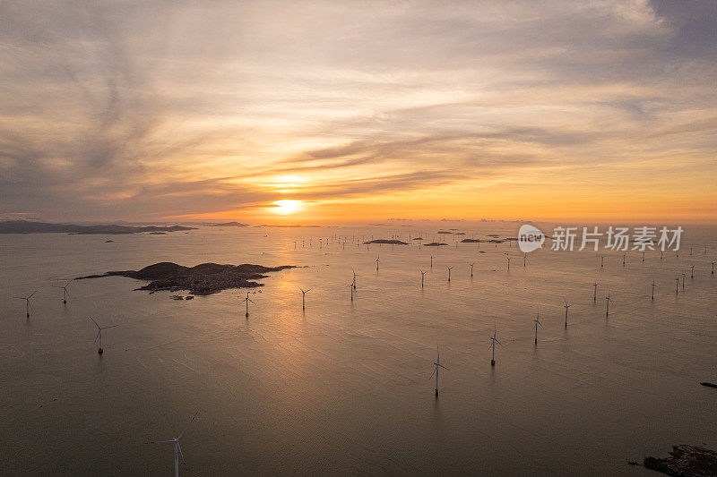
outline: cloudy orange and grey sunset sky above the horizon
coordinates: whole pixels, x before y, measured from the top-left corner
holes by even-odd
[[[717,2],[0,2],[0,217],[717,223]]]

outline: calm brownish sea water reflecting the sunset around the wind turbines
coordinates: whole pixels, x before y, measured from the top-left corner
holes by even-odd
[[[516,229],[472,225],[463,236]],[[196,411],[181,440],[189,475],[640,475],[626,459],[666,455],[673,444],[717,447],[717,392],[697,384],[717,381],[717,233],[687,227],[679,257],[648,252],[643,262],[628,252],[625,267],[622,252],[536,251],[523,268],[515,244],[455,248],[451,236],[439,250],[355,243],[419,232],[431,240],[436,230],[0,235],[3,473],[168,474],[171,445],[145,442],[176,437]],[[334,235],[349,243],[327,245]],[[175,302],[111,277],[73,282],[63,305],[53,288],[158,261],[306,268],[264,279],[249,319],[242,290]],[[428,271],[423,289],[419,268]],[[306,311],[299,287],[311,289]],[[34,290],[26,319],[13,296]],[[90,316],[120,325],[103,333],[101,356]],[[491,367],[494,327],[503,346]],[[436,345],[450,369],[438,399]]]

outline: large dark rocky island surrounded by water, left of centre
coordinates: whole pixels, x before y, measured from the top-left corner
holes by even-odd
[[[215,294],[229,288],[247,288],[263,286],[253,280],[266,278],[267,272],[275,272],[286,268],[297,268],[293,265],[281,267],[263,267],[245,263],[242,265],[220,265],[203,263],[195,267],[184,267],[176,263],[163,261],[141,270],[108,271],[104,275],[90,275],[84,278],[128,277],[147,280],[150,283],[135,290],[149,290],[150,293],[166,290],[178,292],[188,290],[191,294]]]

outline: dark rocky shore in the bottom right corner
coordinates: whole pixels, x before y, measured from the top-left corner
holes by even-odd
[[[717,452],[704,447],[672,446],[669,457],[645,457],[643,465],[677,477],[717,475]]]

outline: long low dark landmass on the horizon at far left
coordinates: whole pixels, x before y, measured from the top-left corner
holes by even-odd
[[[77,226],[73,224],[50,224],[27,220],[5,220],[0,222],[0,234],[140,234],[143,232],[166,233],[180,230],[194,230],[186,226]]]

